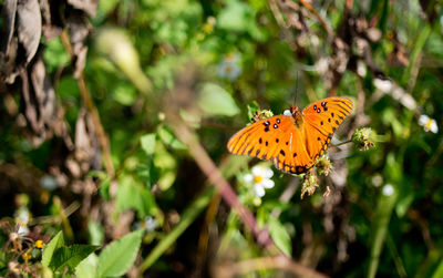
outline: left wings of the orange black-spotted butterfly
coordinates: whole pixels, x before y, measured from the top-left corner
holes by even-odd
[[[302,130],[295,126],[292,116],[278,115],[237,132],[230,137],[228,150],[233,154],[272,161],[278,169],[300,174],[311,163],[303,137]]]

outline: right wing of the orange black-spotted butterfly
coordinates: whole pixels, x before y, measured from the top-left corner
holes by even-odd
[[[312,102],[302,111],[307,151],[315,162],[328,147],[333,133],[351,113],[353,103],[346,97]]]

